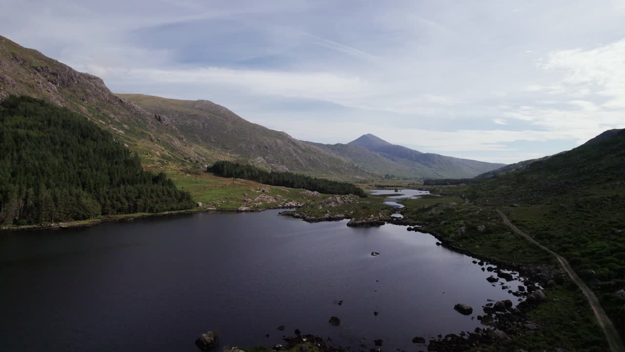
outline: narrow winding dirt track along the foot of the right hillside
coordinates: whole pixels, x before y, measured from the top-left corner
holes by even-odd
[[[564,271],[569,274],[569,277],[571,277],[572,281],[574,281],[577,284],[577,287],[579,287],[579,289],[581,289],[582,292],[584,292],[584,294],[586,295],[588,303],[590,304],[592,311],[594,312],[594,316],[597,318],[599,326],[601,326],[603,333],[606,335],[607,344],[609,344],[610,350],[612,352],[625,352],[625,346],[623,346],[621,337],[619,336],[618,331],[616,331],[616,328],[614,328],[614,324],[612,324],[610,318],[608,318],[606,311],[603,310],[601,304],[599,304],[599,300],[594,295],[594,293],[592,293],[591,289],[589,289],[588,286],[584,284],[584,281],[582,281],[582,279],[580,279],[579,276],[577,276],[577,274],[573,271],[569,262],[567,262],[564,257],[560,256],[554,251],[551,251],[551,249],[542,246],[542,244],[532,239],[532,237],[529,237],[527,234],[517,229],[517,227],[512,225],[510,220],[507,219],[506,215],[502,213],[501,210],[497,209],[497,213],[499,213],[501,219],[504,220],[504,223],[508,225],[512,230],[514,230],[514,232],[525,237],[529,242],[536,244],[536,246],[541,247],[541,249],[544,249],[544,251],[547,251],[551,253],[552,256],[556,257],[557,261],[562,264],[562,268],[564,269]]]

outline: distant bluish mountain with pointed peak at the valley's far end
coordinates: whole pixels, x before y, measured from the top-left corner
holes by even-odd
[[[317,147],[350,160],[365,170],[388,173],[399,177],[421,179],[462,179],[502,167],[501,163],[487,163],[417,150],[394,145],[374,135],[367,134],[345,144]],[[384,171],[386,170],[386,171]]]

